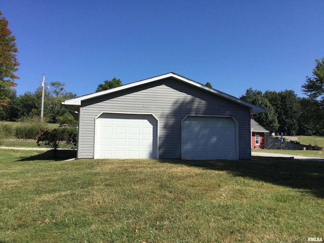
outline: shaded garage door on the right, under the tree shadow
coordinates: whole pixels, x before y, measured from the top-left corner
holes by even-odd
[[[231,117],[187,116],[182,121],[182,159],[238,159]]]

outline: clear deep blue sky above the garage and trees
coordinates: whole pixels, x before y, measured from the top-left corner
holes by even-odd
[[[17,94],[45,81],[77,96],[175,72],[240,97],[294,90],[324,57],[324,1],[6,1]]]

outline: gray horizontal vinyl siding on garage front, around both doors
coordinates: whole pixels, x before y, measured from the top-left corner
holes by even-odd
[[[247,107],[168,78],[82,102],[78,158],[94,157],[95,118],[102,112],[154,114],[158,119],[159,158],[181,158],[181,120],[186,115],[226,115],[238,122],[239,158],[251,158]]]

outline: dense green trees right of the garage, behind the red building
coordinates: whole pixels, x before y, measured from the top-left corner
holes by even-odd
[[[255,120],[267,130],[285,135],[324,135],[324,58],[315,59],[313,76],[306,77],[300,98],[293,90],[266,91],[248,89],[241,100],[260,106],[265,113]]]

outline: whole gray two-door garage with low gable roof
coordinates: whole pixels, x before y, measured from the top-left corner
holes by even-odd
[[[175,73],[63,105],[79,121],[78,158],[251,158],[250,117],[264,112]]]

